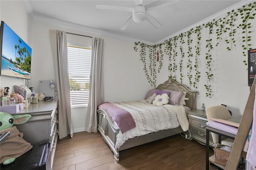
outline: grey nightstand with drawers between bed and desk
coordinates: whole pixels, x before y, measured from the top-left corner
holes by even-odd
[[[188,122],[192,139],[196,140],[200,144],[206,145],[206,122],[208,122],[206,117],[206,111],[198,109],[188,111]],[[209,137],[209,145],[210,147],[214,148],[212,135],[210,135]]]

